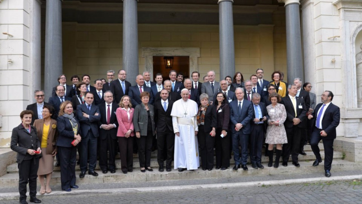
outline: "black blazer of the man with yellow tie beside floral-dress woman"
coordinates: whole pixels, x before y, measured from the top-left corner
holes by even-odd
[[[306,126],[306,124],[304,123],[304,121],[307,118],[307,107],[306,104],[304,103],[304,100],[299,98],[299,97],[295,97],[296,100],[296,118],[300,119],[300,123],[297,125],[300,128],[304,128]],[[291,99],[289,98],[289,95],[287,95],[286,97],[282,98],[281,104],[284,105],[285,110],[287,112],[287,119],[284,122],[284,127],[286,128],[292,128],[293,127],[293,119],[295,118],[295,112],[294,112],[294,108],[293,108],[293,103],[291,101]],[[302,108],[299,108],[299,106],[302,106]]]

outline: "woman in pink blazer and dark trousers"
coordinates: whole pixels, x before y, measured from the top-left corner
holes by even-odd
[[[131,100],[128,95],[124,95],[119,101],[119,108],[115,115],[118,121],[118,145],[121,153],[121,168],[123,174],[133,171],[133,113]]]

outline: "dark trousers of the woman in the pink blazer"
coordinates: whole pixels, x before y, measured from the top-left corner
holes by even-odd
[[[118,137],[119,154],[121,156],[122,171],[133,170],[133,137]]]

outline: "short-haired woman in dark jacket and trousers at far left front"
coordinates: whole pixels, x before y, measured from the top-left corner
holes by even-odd
[[[10,148],[17,152],[16,162],[19,168],[20,203],[27,203],[26,184],[28,183],[30,202],[41,203],[36,197],[41,148],[37,130],[30,125],[33,115],[31,110],[21,111],[21,124],[14,127],[11,134]]]

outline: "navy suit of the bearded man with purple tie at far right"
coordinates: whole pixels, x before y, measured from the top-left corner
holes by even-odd
[[[311,147],[313,150],[314,155],[316,156],[316,159],[322,160],[320,153],[319,153],[319,147],[318,143],[320,140],[323,140],[323,146],[324,146],[324,170],[331,170],[332,166],[332,160],[333,160],[333,142],[334,139],[336,139],[336,127],[340,123],[340,108],[333,103],[330,103],[324,111],[324,115],[322,119],[322,129],[318,129],[316,127],[316,121],[317,121],[317,114],[319,109],[323,103],[319,103],[313,112],[313,118],[315,119],[312,126],[312,136],[311,136]],[[324,130],[325,133],[327,133],[327,136],[322,137],[320,135],[320,132]]]

